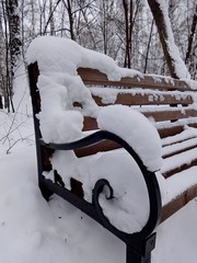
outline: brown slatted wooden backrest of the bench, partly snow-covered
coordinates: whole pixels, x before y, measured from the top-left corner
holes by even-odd
[[[90,87],[94,101],[100,106],[123,104],[135,106],[147,117],[152,117],[158,124],[161,138],[175,135],[184,125],[196,127],[194,117],[197,111],[193,105],[195,92],[184,81],[163,77],[144,77],[144,79],[124,78],[120,81],[108,81],[106,76],[94,69],[78,69],[83,82]],[[116,99],[109,102],[112,94]],[[108,99],[107,99],[108,96]],[[106,102],[105,102],[106,101]],[[182,119],[182,123],[170,124]],[[96,128],[94,119],[86,118],[84,130]]]

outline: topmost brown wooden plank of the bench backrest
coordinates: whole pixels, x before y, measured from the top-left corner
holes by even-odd
[[[144,76],[143,79],[139,77],[123,78],[120,81],[109,81],[105,73],[100,72],[96,69],[79,68],[78,73],[82,78],[85,84],[97,84],[97,85],[114,85],[114,87],[127,87],[127,88],[151,88],[159,90],[192,90],[184,81],[172,79],[174,84],[167,83],[165,78],[161,77],[160,82],[155,81],[155,78]]]

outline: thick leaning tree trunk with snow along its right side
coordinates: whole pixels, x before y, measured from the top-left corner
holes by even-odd
[[[174,36],[169,18],[169,7],[165,1],[148,0],[151,9],[163,53],[167,62],[171,77],[175,79],[190,78],[189,72],[181,58],[177,46],[174,43]]]

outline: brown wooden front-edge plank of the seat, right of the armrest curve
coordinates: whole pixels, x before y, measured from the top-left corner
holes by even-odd
[[[189,201],[197,196],[197,184],[186,190],[183,194],[172,199],[162,209],[161,222],[166,220],[182,207],[184,207]]]

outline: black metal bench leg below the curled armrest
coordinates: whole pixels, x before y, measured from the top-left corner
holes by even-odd
[[[126,245],[126,263],[151,263],[151,251],[155,247],[155,233],[146,240]]]

